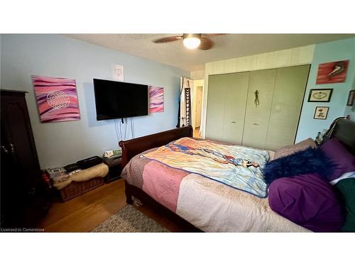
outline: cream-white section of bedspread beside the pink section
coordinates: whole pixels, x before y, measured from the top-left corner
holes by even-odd
[[[176,213],[205,232],[310,232],[276,214],[268,199],[198,174],[182,179]]]

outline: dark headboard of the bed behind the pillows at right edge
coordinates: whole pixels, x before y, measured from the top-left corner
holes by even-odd
[[[337,138],[351,154],[355,155],[355,122],[349,119],[338,120],[330,138]]]

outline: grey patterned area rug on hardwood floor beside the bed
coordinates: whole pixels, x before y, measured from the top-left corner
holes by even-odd
[[[95,227],[94,233],[169,233],[168,229],[127,205]]]

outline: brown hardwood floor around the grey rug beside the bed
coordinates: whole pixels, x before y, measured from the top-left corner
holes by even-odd
[[[90,232],[110,216],[126,206],[124,179],[93,189],[66,202],[55,202],[38,228],[45,232]],[[172,232],[182,229],[146,206],[136,207]]]

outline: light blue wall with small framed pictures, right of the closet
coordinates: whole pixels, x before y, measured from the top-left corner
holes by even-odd
[[[319,84],[316,85],[318,65],[324,62],[338,60],[349,60],[349,68],[346,81],[343,83]],[[296,143],[305,138],[315,138],[318,131],[329,128],[330,123],[339,116],[349,113],[346,109],[351,87],[354,89],[355,82],[355,38],[338,40],[330,43],[315,45],[315,55],[310,69],[310,77],[307,82],[305,99],[303,101],[300,123],[298,126]],[[329,103],[307,102],[310,89],[332,88],[332,98]],[[329,113],[326,120],[313,119],[316,106],[329,106]],[[354,120],[354,112],[352,112]]]

